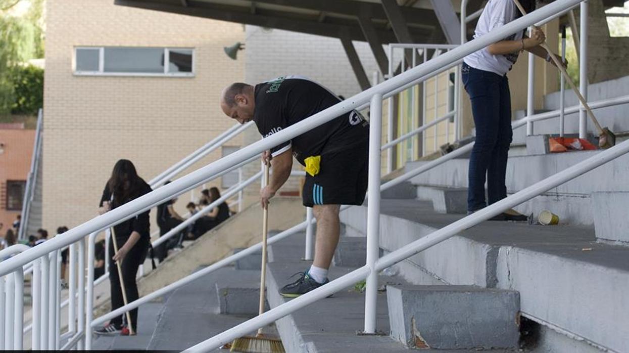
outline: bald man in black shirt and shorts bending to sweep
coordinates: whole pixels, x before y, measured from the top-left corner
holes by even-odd
[[[326,87],[301,76],[284,76],[254,86],[234,83],[221,94],[221,109],[244,124],[255,121],[263,137],[315,115],[341,101]],[[295,298],[328,283],[328,268],[337,248],[340,205],[362,205],[367,192],[369,124],[357,111],[338,116],[317,128],[265,152],[273,174],[260,190],[269,199],[291,174],[292,157],[306,167],[303,204],[315,214],[315,260],[299,279],[280,290]]]

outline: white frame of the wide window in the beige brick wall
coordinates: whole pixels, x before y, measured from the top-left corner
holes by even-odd
[[[164,72],[105,72],[105,48],[162,48],[164,50]],[[190,47],[74,47],[72,50],[72,74],[74,76],[121,76],[121,77],[194,77],[196,74],[196,49]],[[77,71],[77,50],[97,49],[98,50],[98,71]],[[170,63],[170,50],[191,50],[192,52],[192,72],[168,72]]]

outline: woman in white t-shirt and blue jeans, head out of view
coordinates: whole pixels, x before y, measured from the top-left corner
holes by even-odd
[[[520,3],[527,13],[535,10],[535,0],[520,0]],[[513,0],[489,0],[476,25],[474,38],[520,17]],[[531,38],[524,36],[524,31],[519,31],[463,59],[462,80],[470,96],[476,125],[476,140],[469,162],[468,214],[507,196],[504,179],[513,132],[511,94],[506,73],[523,50],[550,62],[547,52],[539,46],[544,40],[545,35],[538,28],[533,28]],[[488,202],[485,199],[486,180]],[[492,220],[518,221],[526,220],[526,216],[507,210]]]

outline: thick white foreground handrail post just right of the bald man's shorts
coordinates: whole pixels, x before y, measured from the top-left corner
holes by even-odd
[[[380,237],[380,163],[382,129],[382,94],[374,94],[369,109],[369,189],[367,190],[367,266],[370,268],[365,286],[365,333],[376,333],[376,301]]]

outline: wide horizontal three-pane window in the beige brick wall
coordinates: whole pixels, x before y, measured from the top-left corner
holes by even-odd
[[[194,76],[194,49],[77,47],[74,74],[88,76]]]

